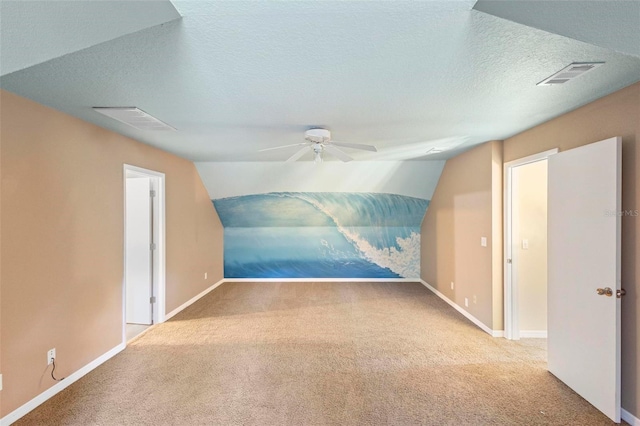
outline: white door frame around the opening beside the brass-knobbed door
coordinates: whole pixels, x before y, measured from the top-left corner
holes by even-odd
[[[518,283],[514,277],[513,251],[513,169],[538,161],[547,160],[558,153],[558,148],[543,151],[527,157],[504,163],[504,337],[509,340],[520,339]]]

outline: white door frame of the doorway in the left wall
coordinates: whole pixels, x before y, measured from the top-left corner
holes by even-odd
[[[123,188],[123,268],[122,268],[122,342],[126,344],[126,326],[127,326],[127,299],[126,299],[126,262],[127,262],[127,244],[126,244],[126,196],[127,196],[127,175],[147,177],[151,180],[151,187],[156,191],[153,198],[153,241],[156,244],[156,250],[153,253],[153,296],[156,298],[153,306],[153,324],[159,324],[165,321],[165,284],[166,284],[166,216],[165,216],[165,175],[155,170],[144,169],[142,167],[123,164],[122,168],[122,188]]]

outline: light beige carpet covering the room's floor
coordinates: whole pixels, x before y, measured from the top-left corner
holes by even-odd
[[[418,283],[225,283],[19,425],[610,425]]]

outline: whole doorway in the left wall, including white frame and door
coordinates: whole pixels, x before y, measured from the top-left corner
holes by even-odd
[[[165,318],[165,176],[124,165],[122,339]]]

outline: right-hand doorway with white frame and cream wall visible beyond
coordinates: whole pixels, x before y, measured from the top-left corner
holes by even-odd
[[[547,165],[557,149],[505,163],[505,337],[547,337]]]

